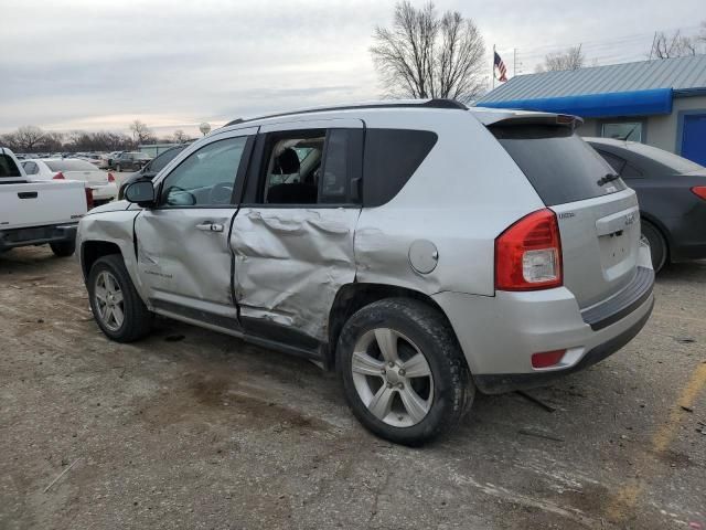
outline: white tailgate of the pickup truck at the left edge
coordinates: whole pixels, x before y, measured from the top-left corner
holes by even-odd
[[[85,213],[83,182],[46,181],[0,187],[0,230],[76,222]]]

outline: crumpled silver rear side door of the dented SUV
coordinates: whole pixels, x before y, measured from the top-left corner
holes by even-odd
[[[302,132],[308,131],[308,132]],[[312,132],[313,131],[313,132]],[[272,155],[281,138],[325,131],[315,203],[276,203],[265,197]],[[295,140],[290,140],[295,141]],[[355,279],[353,236],[361,206],[363,121],[302,120],[260,128],[244,202],[233,224],[234,285],[244,328],[263,324],[325,340],[329,311],[344,284]],[[299,149],[296,145],[296,149]],[[301,149],[298,150],[298,152]],[[311,176],[300,160],[304,182]],[[345,191],[341,186],[344,186]],[[335,199],[335,193],[342,195]],[[333,194],[331,194],[333,193]]]

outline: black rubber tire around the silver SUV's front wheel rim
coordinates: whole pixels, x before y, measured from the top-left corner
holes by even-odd
[[[118,329],[110,329],[100,318],[98,303],[95,296],[96,282],[101,272],[108,272],[115,277],[122,293],[124,320]],[[132,285],[132,280],[125,268],[122,256],[110,254],[103,256],[93,264],[88,274],[88,299],[90,309],[98,327],[109,339],[117,342],[132,342],[150,332],[153,314],[147,308],[140,295]]]

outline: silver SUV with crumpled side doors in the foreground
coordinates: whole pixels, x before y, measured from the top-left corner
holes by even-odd
[[[579,123],[432,99],[227,124],[81,221],[96,321],[311,359],[368,430],[429,441],[477,389],[586,368],[650,316],[635,193]]]

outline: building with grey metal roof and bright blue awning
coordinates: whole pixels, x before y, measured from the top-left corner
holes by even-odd
[[[477,106],[573,114],[582,136],[641,141],[706,166],[706,55],[518,75]]]

